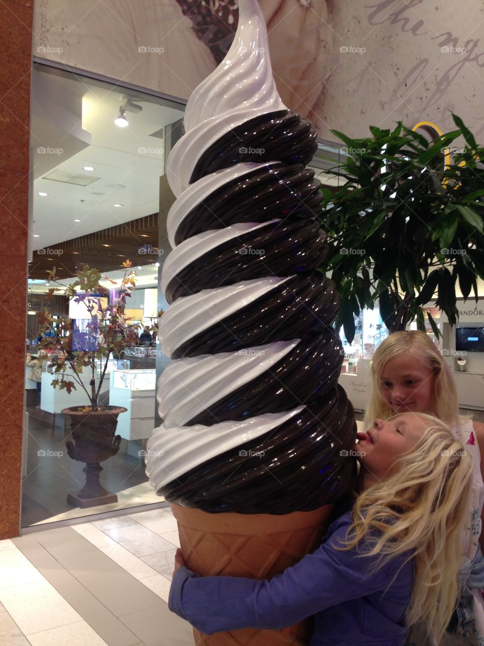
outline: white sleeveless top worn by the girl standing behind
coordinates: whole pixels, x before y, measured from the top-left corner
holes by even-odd
[[[474,433],[472,419],[464,422],[461,428],[452,428],[454,437],[463,443],[466,450],[469,450],[474,457],[472,472],[474,483],[472,495],[469,502],[469,523],[465,528],[465,552],[467,558],[472,561],[476,555],[481,535],[481,512],[484,503],[484,483],[481,475],[481,453],[479,444]],[[474,623],[476,625],[476,637],[478,646],[484,646],[484,599],[482,590],[472,590],[474,593]]]

